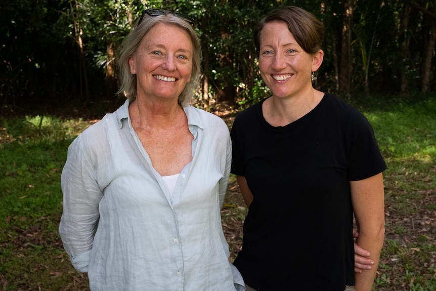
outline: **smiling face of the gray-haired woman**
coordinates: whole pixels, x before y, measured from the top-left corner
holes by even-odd
[[[176,25],[157,24],[130,57],[137,75],[139,99],[173,100],[191,80],[193,46],[188,33]]]

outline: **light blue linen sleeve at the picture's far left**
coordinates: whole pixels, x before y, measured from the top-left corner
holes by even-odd
[[[59,234],[73,267],[87,272],[103,192],[79,136],[68,148],[61,176],[63,213]]]

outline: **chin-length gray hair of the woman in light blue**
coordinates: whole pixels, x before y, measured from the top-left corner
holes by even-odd
[[[200,65],[202,58],[200,40],[193,26],[186,20],[172,13],[157,16],[145,15],[141,23],[138,24],[138,22],[139,20],[135,24],[135,28],[125,37],[121,46],[121,55],[118,60],[121,85],[118,94],[123,94],[130,102],[133,102],[137,97],[137,76],[130,72],[129,59],[138,50],[144,36],[157,24],[176,25],[188,33],[193,47],[191,80],[186,84],[178,98],[179,104],[183,107],[188,106],[192,99],[193,92],[197,89],[200,81]]]

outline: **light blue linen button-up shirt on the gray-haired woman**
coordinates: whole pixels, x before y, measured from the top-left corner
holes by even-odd
[[[221,224],[231,163],[225,122],[184,108],[192,161],[172,196],[135,133],[128,101],[80,134],[62,171],[59,233],[91,290],[244,290]]]

